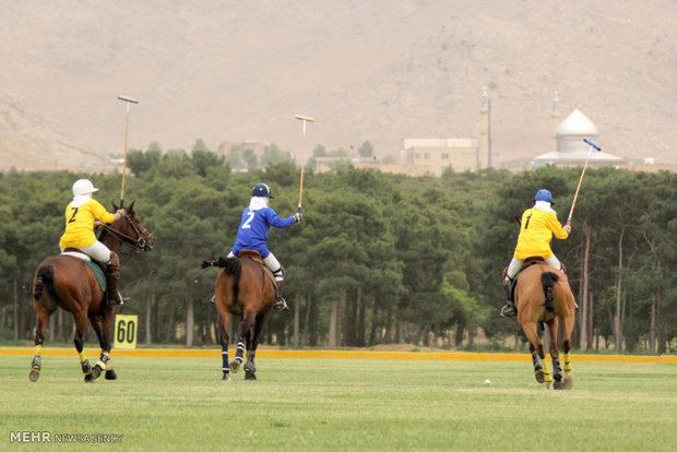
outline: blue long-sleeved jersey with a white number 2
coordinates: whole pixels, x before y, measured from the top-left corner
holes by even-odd
[[[256,250],[259,251],[261,258],[268,258],[271,253],[266,247],[268,233],[271,226],[285,228],[295,222],[294,216],[281,218],[273,207],[256,211],[250,210],[250,207],[245,209],[240,227],[237,229],[237,240],[233,247],[233,253],[237,255],[241,250]]]

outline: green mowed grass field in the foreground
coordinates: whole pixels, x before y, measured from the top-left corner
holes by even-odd
[[[213,358],[115,358],[82,382],[78,357],[0,356],[0,450],[674,451],[677,365],[577,362],[545,391],[531,362],[259,358],[256,382]],[[485,385],[485,379],[491,384]],[[11,442],[17,431],[121,435],[111,444]]]

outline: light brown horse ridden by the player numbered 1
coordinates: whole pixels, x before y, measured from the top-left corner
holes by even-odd
[[[562,272],[546,264],[543,258],[527,258],[514,287],[514,301],[518,307],[518,322],[528,340],[534,373],[538,383],[547,389],[573,386],[571,373],[571,331],[575,323],[575,300],[569,278]],[[565,354],[565,376],[559,362],[557,336],[559,319],[562,321],[562,350]],[[545,360],[545,349],[538,336],[538,323],[548,325],[550,333],[550,357],[554,374],[550,374]],[[553,384],[553,377],[555,384]]]

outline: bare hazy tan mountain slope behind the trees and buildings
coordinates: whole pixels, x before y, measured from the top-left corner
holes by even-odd
[[[298,153],[302,114],[317,119],[309,148],[369,140],[387,155],[404,138],[477,136],[488,86],[497,162],[550,150],[557,91],[562,118],[581,109],[605,151],[677,163],[672,0],[0,0],[0,93],[96,155],[123,148],[118,94],[140,99],[132,147],[259,140]],[[57,132],[22,129],[31,123],[0,129],[2,162],[26,136],[54,153]]]

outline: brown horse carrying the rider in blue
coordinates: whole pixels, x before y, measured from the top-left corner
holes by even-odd
[[[218,261],[203,262],[202,266],[221,267],[216,275],[215,302],[218,313],[218,334],[223,355],[223,380],[230,380],[230,371],[236,373],[244,360],[245,343],[247,362],[245,380],[257,379],[254,358],[259,335],[268,322],[275,301],[275,283],[257,251],[242,250],[238,258],[219,258]],[[228,364],[229,314],[240,318],[237,331],[237,352]]]

